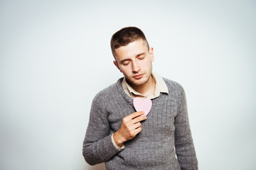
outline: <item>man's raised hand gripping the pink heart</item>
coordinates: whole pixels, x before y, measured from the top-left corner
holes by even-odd
[[[135,112],[127,115],[122,119],[122,125],[114,132],[114,142],[121,147],[127,140],[132,140],[139,132],[142,131],[142,120],[146,120],[144,112]]]

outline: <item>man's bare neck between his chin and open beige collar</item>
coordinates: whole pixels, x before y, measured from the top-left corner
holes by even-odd
[[[130,84],[131,86],[131,84]],[[154,81],[154,79],[151,77],[149,77],[149,80],[146,81],[145,84],[142,84],[142,85],[139,85],[139,86],[136,86],[136,85],[132,85],[132,88],[139,92],[139,94],[142,94],[144,96],[149,96],[150,94],[154,94],[154,90],[155,90],[155,87],[156,87],[156,83]]]

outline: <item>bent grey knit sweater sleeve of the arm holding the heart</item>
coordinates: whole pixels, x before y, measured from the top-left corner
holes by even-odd
[[[107,112],[99,103],[96,99],[92,101],[90,120],[82,147],[85,161],[90,165],[107,162],[119,152],[112,143]]]

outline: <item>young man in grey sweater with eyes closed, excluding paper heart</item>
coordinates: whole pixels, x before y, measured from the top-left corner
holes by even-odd
[[[118,170],[198,169],[183,88],[152,72],[154,51],[142,30],[117,31],[111,49],[124,77],[92,101],[85,161]],[[148,115],[135,110],[137,97],[151,100]]]

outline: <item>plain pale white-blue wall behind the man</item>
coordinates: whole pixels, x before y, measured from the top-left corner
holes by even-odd
[[[122,74],[110,38],[141,28],[186,91],[200,169],[256,169],[255,1],[0,1],[0,169],[96,170],[92,98]]]

